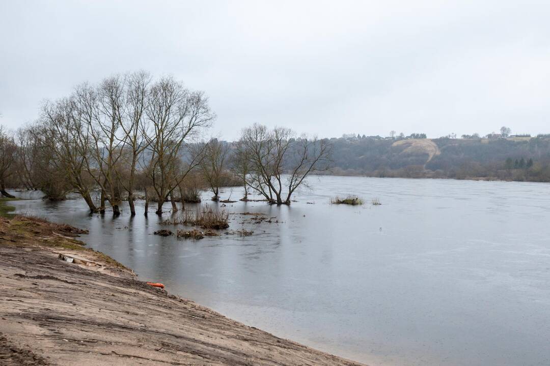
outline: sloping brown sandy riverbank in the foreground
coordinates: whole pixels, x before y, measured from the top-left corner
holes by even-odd
[[[358,365],[152,288],[78,233],[0,218],[2,364]]]

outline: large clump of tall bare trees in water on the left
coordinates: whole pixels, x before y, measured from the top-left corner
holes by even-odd
[[[19,129],[17,144],[0,128],[0,193],[9,195],[3,188],[13,177],[12,186],[41,189],[50,199],[78,192],[90,212],[105,211],[108,201],[114,215],[124,193],[135,215],[135,189],[145,190],[146,208],[157,201],[157,213],[168,199],[177,210],[175,189],[182,201],[188,187],[196,196],[199,185],[184,181],[206,154],[191,145],[215,114],[204,93],[172,77],[151,80],[139,71],[84,83],[43,104],[40,119]],[[92,199],[97,191],[100,207]]]

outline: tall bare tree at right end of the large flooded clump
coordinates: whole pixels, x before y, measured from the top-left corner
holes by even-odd
[[[173,77],[164,77],[150,87],[145,113],[151,132],[145,135],[151,157],[147,169],[158,198],[157,215],[162,205],[199,162],[193,158],[178,172],[185,144],[202,127],[209,126],[215,115],[202,92],[191,92]]]

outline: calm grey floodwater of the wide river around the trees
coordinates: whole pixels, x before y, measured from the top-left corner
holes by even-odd
[[[223,207],[276,217],[255,224],[230,215],[230,229],[254,231],[244,238],[158,237],[152,233],[160,218],[145,218],[142,202],[134,218],[127,207],[117,218],[89,216],[83,200],[10,204],[89,229],[82,240],[142,280],[355,361],[550,365],[550,185],[328,176],[309,182],[290,207]],[[347,193],[365,204],[329,203]],[[241,189],[225,189],[222,198],[229,196],[239,199]],[[371,205],[374,198],[382,205]]]

